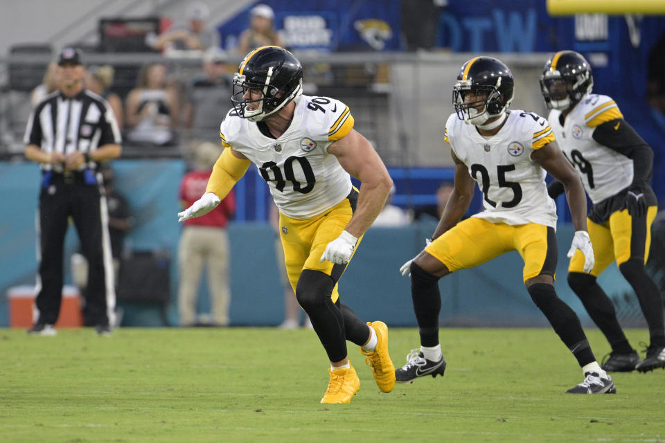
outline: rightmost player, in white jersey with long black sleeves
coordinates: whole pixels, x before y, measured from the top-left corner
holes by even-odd
[[[596,264],[591,273],[585,273],[582,257],[574,255],[568,283],[612,346],[603,369],[647,372],[665,368],[663,302],[657,284],[644,269],[658,209],[649,184],[653,152],[623,120],[612,98],[591,93],[593,82],[589,63],[575,51],[554,54],[540,78],[545,105],[552,109],[549,122],[593,202],[587,225]],[[559,195],[560,183],[551,183],[549,192],[551,197]],[[644,361],[628,343],[612,301],[596,282],[614,260],[635,290],[649,327]]]

